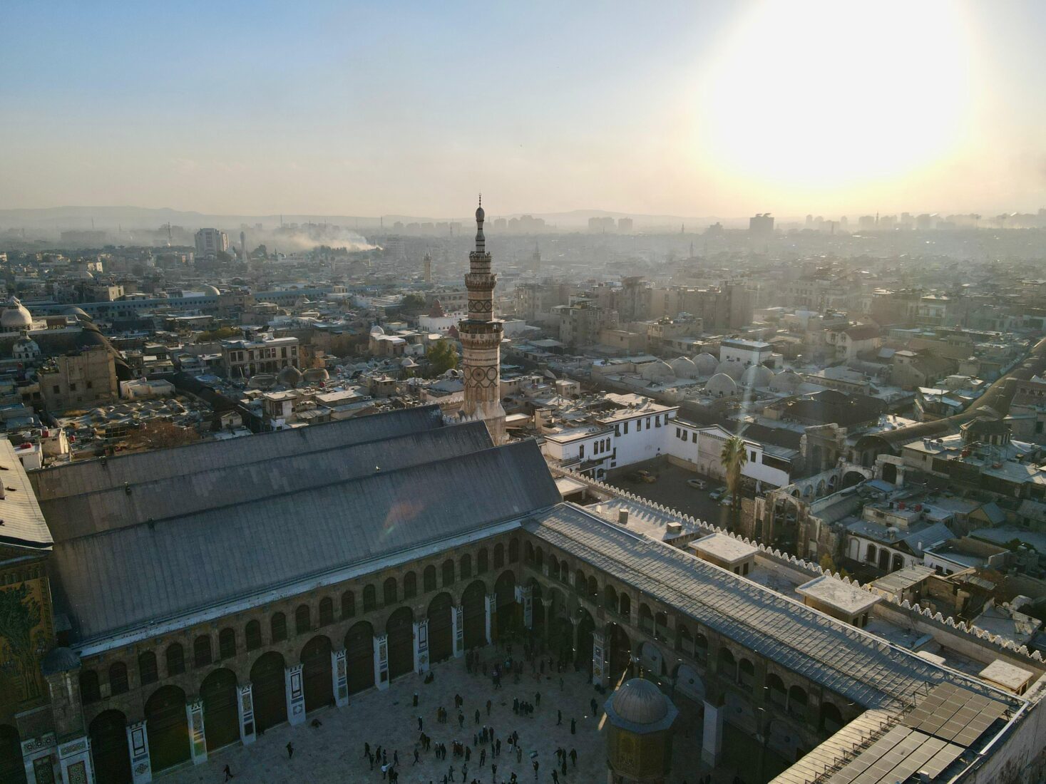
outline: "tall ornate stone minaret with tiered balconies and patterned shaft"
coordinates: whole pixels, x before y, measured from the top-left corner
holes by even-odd
[[[458,322],[464,353],[464,406],[461,413],[486,422],[495,443],[505,440],[505,410],[501,408],[501,321],[494,318],[491,254],[483,237],[483,200],[476,209],[476,250],[469,254],[464,285],[469,290],[469,318]]]

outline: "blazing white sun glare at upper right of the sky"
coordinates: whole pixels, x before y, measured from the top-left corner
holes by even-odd
[[[697,144],[717,168],[796,189],[939,163],[967,133],[970,37],[950,2],[766,2],[701,77]]]

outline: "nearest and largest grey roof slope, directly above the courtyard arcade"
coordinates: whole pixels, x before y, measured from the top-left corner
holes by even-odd
[[[435,462],[59,543],[56,608],[84,643],[479,532],[560,501],[533,441],[431,457]]]

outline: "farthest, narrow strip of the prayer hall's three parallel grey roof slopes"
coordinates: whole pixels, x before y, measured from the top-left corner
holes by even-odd
[[[85,460],[33,471],[31,481],[37,498],[49,501],[122,487],[124,483],[179,477],[196,472],[200,466],[255,463],[441,426],[439,407],[425,406],[278,433],[263,433],[245,439],[205,441],[105,460]]]

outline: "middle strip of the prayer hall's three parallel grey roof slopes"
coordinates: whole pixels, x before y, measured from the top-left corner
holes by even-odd
[[[305,448],[310,445],[302,444],[300,453],[250,463],[200,463],[192,472],[44,501],[41,508],[54,540],[65,541],[149,520],[368,477],[378,468],[391,471],[468,455],[490,448],[493,442],[483,422],[469,422],[365,443]]]

